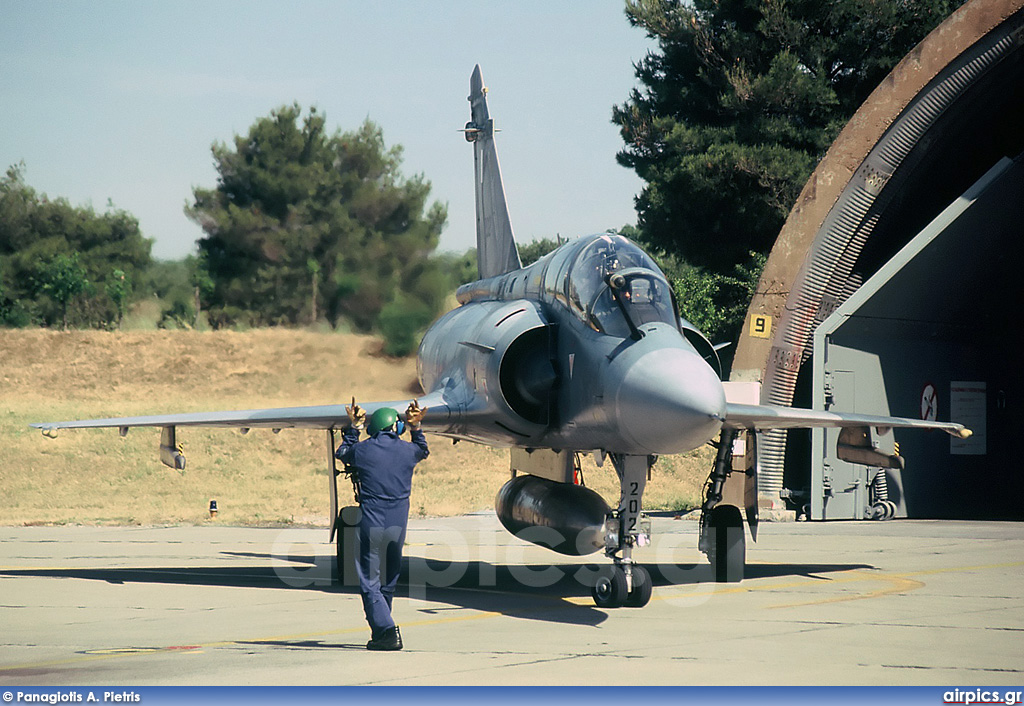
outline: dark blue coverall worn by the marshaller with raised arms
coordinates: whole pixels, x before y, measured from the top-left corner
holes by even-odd
[[[349,427],[335,457],[355,469],[359,481],[359,560],[356,574],[362,610],[373,637],[394,627],[391,600],[401,571],[401,550],[409,524],[409,496],[413,468],[427,457],[427,440],[411,429],[412,443],[393,431],[380,431],[359,441]]]

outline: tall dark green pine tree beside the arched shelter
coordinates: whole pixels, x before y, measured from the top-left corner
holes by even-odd
[[[709,273],[767,253],[815,164],[954,0],[627,0],[658,44],[612,111],[643,240]]]

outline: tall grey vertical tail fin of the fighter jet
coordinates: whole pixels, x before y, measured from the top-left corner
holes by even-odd
[[[486,93],[477,65],[469,80],[472,119],[466,124],[466,139],[473,142],[476,170],[476,263],[480,279],[522,267],[505,203],[502,170],[495,150],[495,121],[487,114]]]

